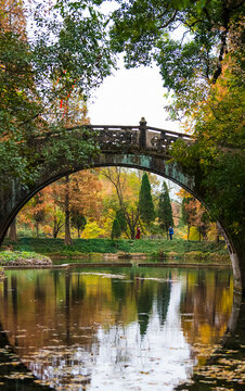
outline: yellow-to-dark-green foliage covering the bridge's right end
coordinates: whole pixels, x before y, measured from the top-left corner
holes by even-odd
[[[237,25],[236,25],[237,27]],[[219,219],[233,238],[245,236],[245,111],[244,79],[241,77],[243,52],[242,31],[237,28],[225,58],[223,72],[212,86],[209,97],[194,114],[193,142],[188,149],[182,142],[172,149],[183,169],[196,177],[196,188],[203,194],[211,218]],[[234,52],[233,52],[233,51]],[[241,241],[241,243],[242,243]]]

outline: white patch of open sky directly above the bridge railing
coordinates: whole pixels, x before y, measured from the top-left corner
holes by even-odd
[[[156,66],[121,66],[104,80],[88,104],[91,124],[136,126],[144,116],[149,126],[179,131],[179,123],[166,121],[165,92]]]

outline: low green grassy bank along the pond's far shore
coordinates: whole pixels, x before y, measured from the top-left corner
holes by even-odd
[[[72,245],[65,245],[62,239],[22,238],[17,243],[5,240],[3,248],[8,245],[14,251],[36,252],[51,257],[79,257],[94,253],[116,254],[119,252],[125,253],[126,256],[127,254],[144,253],[156,257],[171,256],[186,260],[198,257],[205,261],[217,258],[225,263],[229,262],[224,242],[199,242],[183,239],[172,241],[166,239],[119,239],[114,241],[111,239],[74,239]]]

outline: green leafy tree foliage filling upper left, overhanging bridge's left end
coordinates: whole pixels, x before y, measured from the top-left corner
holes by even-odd
[[[12,30],[0,26],[0,181],[5,188],[13,179],[31,186],[43,161],[55,172],[59,165],[86,164],[98,152],[92,135],[80,133],[77,142],[78,135],[64,129],[62,118],[51,121],[50,112],[74,84],[88,96],[113,67],[106,21],[91,1],[57,2],[49,9],[51,17],[46,3],[37,7],[29,15],[36,29],[30,41],[16,33],[18,15]]]

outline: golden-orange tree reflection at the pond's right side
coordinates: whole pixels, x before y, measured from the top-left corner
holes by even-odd
[[[233,280],[230,270],[189,270],[185,287],[182,328],[199,364],[204,364],[212,345],[225,332],[233,304]]]

